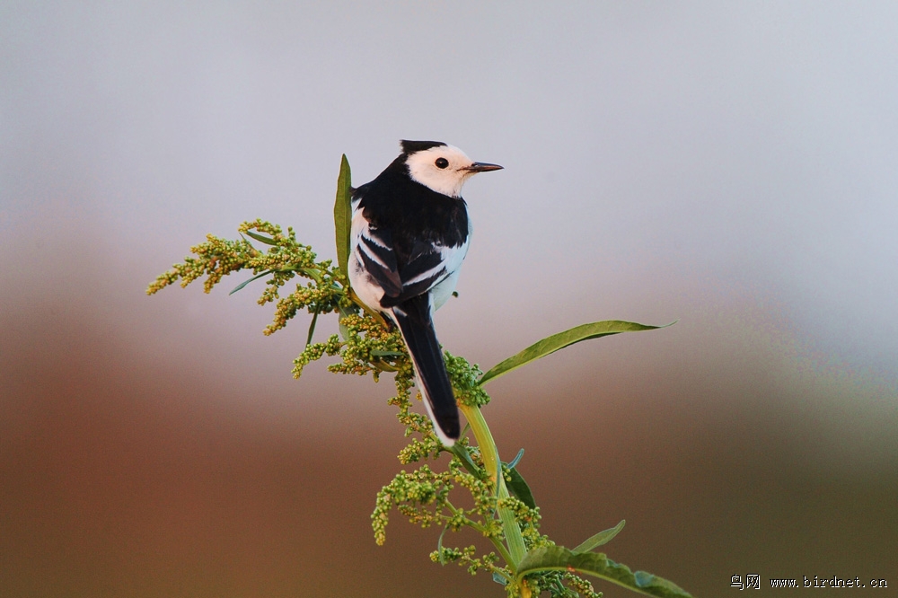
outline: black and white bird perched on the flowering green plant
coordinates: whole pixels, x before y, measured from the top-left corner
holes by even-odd
[[[453,294],[471,242],[462,185],[502,167],[438,141],[401,145],[399,157],[352,194],[349,284],[399,327],[436,435],[452,446],[461,434],[458,407],[431,315]]]

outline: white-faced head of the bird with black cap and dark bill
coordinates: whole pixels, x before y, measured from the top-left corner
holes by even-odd
[[[501,166],[474,162],[454,145],[439,141],[402,141],[402,154],[411,180],[457,198],[464,181],[477,172],[497,171]]]

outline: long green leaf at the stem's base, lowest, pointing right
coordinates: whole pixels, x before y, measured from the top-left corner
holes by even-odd
[[[572,552],[563,546],[544,546],[524,555],[518,564],[516,580],[540,571],[568,571],[596,576],[634,592],[659,598],[692,598],[672,581],[645,571],[630,571],[601,552]]]

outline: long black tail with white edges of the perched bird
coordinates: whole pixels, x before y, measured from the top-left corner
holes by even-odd
[[[392,315],[406,347],[409,347],[411,362],[418,375],[418,387],[427,414],[434,422],[434,431],[443,444],[452,446],[461,434],[461,426],[443,351],[430,319],[430,294],[418,295],[394,306]]]

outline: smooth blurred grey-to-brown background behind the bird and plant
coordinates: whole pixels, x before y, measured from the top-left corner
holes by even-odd
[[[374,495],[392,380],[290,376],[262,286],[145,296],[257,217],[333,257],[356,184],[438,139],[475,235],[445,347],[573,546],[696,596],[898,586],[898,4],[0,4],[0,595],[503,596]],[[335,329],[321,322],[316,338]],[[447,543],[477,541],[461,534]],[[634,595],[596,583],[608,597]]]

